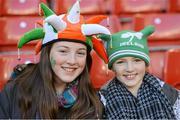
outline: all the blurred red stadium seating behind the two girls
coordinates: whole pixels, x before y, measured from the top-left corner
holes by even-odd
[[[27,31],[38,27],[39,3],[46,3],[57,15],[66,13],[76,0],[0,0],[0,90],[9,80],[17,64],[38,62],[34,47],[36,42],[20,50],[17,42]],[[139,31],[146,25],[154,25],[155,33],[148,39],[151,65],[149,72],[180,89],[180,0],[81,0],[81,14],[107,15],[100,24],[112,33],[131,29]],[[99,89],[113,78],[107,65],[92,52],[91,79]]]

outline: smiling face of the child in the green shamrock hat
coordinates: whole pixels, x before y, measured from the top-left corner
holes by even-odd
[[[113,71],[128,90],[138,90],[145,75],[146,65],[139,58],[123,57],[113,63]]]

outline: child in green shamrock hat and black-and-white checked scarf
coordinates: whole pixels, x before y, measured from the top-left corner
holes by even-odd
[[[109,69],[115,77],[102,88],[107,119],[180,119],[180,92],[147,72],[147,37],[154,26],[140,32],[124,30],[100,35],[105,41]]]

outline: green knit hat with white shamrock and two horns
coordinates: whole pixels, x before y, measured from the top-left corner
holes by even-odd
[[[140,32],[124,30],[110,35],[100,35],[104,40],[106,51],[109,57],[108,67],[122,57],[137,57],[150,63],[147,37],[154,32],[154,26],[147,26]]]

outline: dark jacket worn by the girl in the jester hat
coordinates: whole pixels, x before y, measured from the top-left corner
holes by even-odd
[[[21,119],[22,112],[17,100],[17,86],[14,80],[9,81],[0,92],[0,119]],[[57,118],[66,118],[69,108],[59,110]],[[40,119],[36,109],[32,108],[31,116],[28,118]]]

